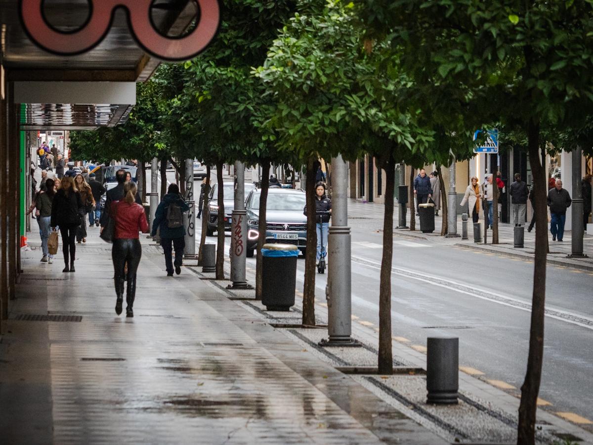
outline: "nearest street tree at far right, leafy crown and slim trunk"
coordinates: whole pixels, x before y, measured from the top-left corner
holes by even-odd
[[[543,363],[547,253],[541,130],[579,128],[584,116],[590,114],[591,3],[402,0],[396,5],[366,0],[365,5],[369,29],[391,33],[392,42],[401,49],[404,71],[416,82],[435,79],[438,74],[443,92],[458,91],[458,109],[464,110],[461,115],[511,128],[520,126],[527,135],[537,187],[537,225],[530,346],[517,443],[534,444]],[[456,111],[449,113],[455,116]]]

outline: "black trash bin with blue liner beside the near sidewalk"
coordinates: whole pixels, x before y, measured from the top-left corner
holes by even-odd
[[[264,244],[262,257],[262,304],[267,310],[288,311],[295,304],[298,247]]]

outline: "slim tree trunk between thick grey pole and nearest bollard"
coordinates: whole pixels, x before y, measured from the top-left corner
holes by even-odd
[[[379,287],[379,374],[393,374],[391,351],[391,262],[393,260],[393,194],[396,163],[390,154],[385,169],[385,214],[383,219],[383,258]]]

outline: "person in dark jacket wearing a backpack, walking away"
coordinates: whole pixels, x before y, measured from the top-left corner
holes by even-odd
[[[175,273],[181,274],[183,263],[183,250],[185,249],[185,227],[183,225],[183,213],[189,211],[189,205],[179,194],[177,184],[171,184],[167,189],[167,195],[162,198],[161,204],[157,207],[154,222],[152,223],[152,236],[160,230],[161,246],[165,253],[165,267],[167,276],[173,276],[173,252],[171,243],[175,250]]]

